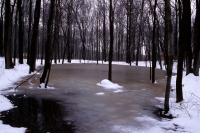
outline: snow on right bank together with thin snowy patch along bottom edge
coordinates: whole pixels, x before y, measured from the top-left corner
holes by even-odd
[[[144,66],[144,62],[139,63]],[[149,66],[149,65],[147,65]],[[159,65],[157,65],[159,66]],[[173,72],[177,72],[177,63],[173,65]],[[170,96],[170,111],[173,119],[156,120],[149,116],[137,117],[135,120],[142,123],[142,128],[131,125],[115,125],[112,131],[116,133],[198,133],[200,123],[200,77],[183,72],[183,98],[176,103],[176,75],[172,76],[172,91]],[[164,104],[164,97],[155,97]],[[162,106],[163,108],[163,106]]]

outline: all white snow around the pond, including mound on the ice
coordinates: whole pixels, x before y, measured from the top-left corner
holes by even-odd
[[[72,60],[72,63],[84,63],[83,60]],[[67,63],[65,61],[65,63]],[[96,61],[85,61],[85,63],[96,63]],[[101,61],[99,62],[102,63]],[[37,65],[40,64],[38,60]],[[104,63],[108,64],[108,63]],[[112,64],[116,65],[128,65],[125,62],[113,62]],[[17,82],[20,78],[28,75],[29,67],[26,64],[19,65],[17,64],[14,69],[6,70],[4,69],[4,58],[0,58],[0,112],[14,108],[11,102],[5,98],[2,92],[5,92],[5,89],[14,87],[14,83]],[[132,64],[135,66],[135,64]],[[149,63],[139,62],[139,66],[149,66]],[[157,65],[159,68],[159,65]],[[173,72],[176,72],[176,63],[173,67]],[[95,84],[95,83],[94,83]],[[119,133],[198,133],[199,123],[200,123],[200,77],[195,77],[193,74],[188,76],[183,74],[183,94],[184,101],[181,103],[176,103],[175,99],[175,88],[176,88],[176,76],[172,77],[172,92],[170,98],[170,113],[175,117],[172,120],[162,119],[156,120],[150,118],[149,116],[143,116],[134,118],[143,123],[143,127],[137,128],[132,127],[131,125],[115,125],[112,127],[113,132]],[[116,92],[123,92],[123,88],[108,80],[102,80],[100,83],[97,83],[104,87],[105,89],[112,89]],[[103,92],[97,93],[96,95],[104,95]],[[161,102],[164,98],[156,97]],[[0,121],[1,133],[24,133],[26,128],[14,128],[9,125],[2,124]]]

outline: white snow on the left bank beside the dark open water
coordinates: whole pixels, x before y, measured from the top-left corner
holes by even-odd
[[[24,60],[24,62],[26,62],[26,60]],[[40,61],[36,61],[36,64],[38,66]],[[1,94],[6,92],[15,92],[14,83],[27,75],[29,75],[29,66],[26,63],[16,64],[13,69],[5,69],[5,59],[0,57],[0,112],[14,108],[14,105]],[[8,90],[8,88],[11,89]],[[2,121],[0,121],[0,129],[1,133],[24,133],[26,130],[26,128],[15,128],[9,125],[4,125]]]

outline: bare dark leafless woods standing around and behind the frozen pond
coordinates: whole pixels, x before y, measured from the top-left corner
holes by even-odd
[[[0,0],[0,56],[11,69],[27,59],[30,73],[36,59],[45,59],[40,83],[47,86],[52,61],[72,59],[112,61],[152,65],[149,74],[156,79],[156,62],[166,68],[165,111],[173,62],[178,62],[177,102],[182,101],[182,77],[199,76],[199,0]],[[43,61],[41,61],[43,64]]]

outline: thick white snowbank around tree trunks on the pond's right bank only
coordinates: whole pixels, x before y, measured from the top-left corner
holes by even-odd
[[[174,64],[174,72],[176,72],[176,63]],[[176,76],[172,76],[172,91],[170,98],[170,111],[174,119],[163,122],[163,128],[176,128],[176,133],[199,132],[200,123],[200,77],[183,72],[183,98],[180,103],[176,103]],[[164,98],[156,98],[164,103]],[[175,127],[174,127],[175,125]]]

